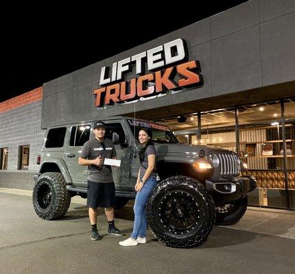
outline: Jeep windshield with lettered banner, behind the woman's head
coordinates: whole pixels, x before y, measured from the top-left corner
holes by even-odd
[[[152,140],[158,143],[178,143],[178,140],[169,129],[165,125],[159,125],[152,122],[147,121],[137,121],[137,120],[130,120],[128,119],[128,123],[130,129],[132,130],[132,134],[134,134],[135,138],[139,139],[139,131],[143,127],[149,127],[152,130]]]

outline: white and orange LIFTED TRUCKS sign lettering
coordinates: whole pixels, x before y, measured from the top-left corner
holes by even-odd
[[[178,38],[115,62],[111,69],[102,67],[99,78],[102,87],[93,91],[95,105],[133,101],[183,87],[201,87],[200,63],[197,60],[188,61],[187,55],[185,40]],[[145,66],[151,73],[145,74]],[[123,75],[132,69],[141,76],[125,81]]]

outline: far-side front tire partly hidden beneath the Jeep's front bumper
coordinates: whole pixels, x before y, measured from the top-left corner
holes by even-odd
[[[237,201],[216,208],[216,225],[233,225],[244,216],[248,205],[247,195]]]

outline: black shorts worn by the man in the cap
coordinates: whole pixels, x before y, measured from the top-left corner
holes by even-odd
[[[87,181],[87,206],[89,208],[113,208],[115,206],[115,184]]]

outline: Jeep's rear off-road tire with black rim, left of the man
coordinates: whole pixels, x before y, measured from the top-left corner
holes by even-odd
[[[47,172],[40,175],[33,189],[36,214],[44,220],[54,220],[66,214],[71,203],[62,173]]]

